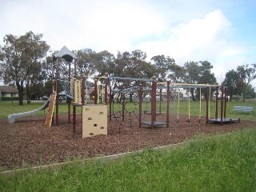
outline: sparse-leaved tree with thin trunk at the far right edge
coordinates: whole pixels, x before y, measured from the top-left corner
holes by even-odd
[[[239,76],[239,86],[241,86],[242,101],[246,102],[246,86],[256,78],[256,64],[245,64],[237,68]]]

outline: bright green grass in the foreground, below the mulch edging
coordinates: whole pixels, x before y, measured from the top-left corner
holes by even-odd
[[[167,151],[0,177],[1,191],[255,191],[256,128]]]

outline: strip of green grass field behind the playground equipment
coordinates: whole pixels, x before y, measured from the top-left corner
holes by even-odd
[[[20,113],[24,111],[29,110],[35,110],[38,107],[42,106],[43,102],[32,102],[31,104],[27,104],[24,101],[24,106],[18,106],[18,101],[15,102],[0,102],[0,118],[7,118],[8,114],[14,114],[14,113]],[[160,102],[157,102],[157,111],[159,111],[159,105]],[[190,111],[189,111],[189,105],[190,105]],[[162,112],[166,112],[166,102],[161,103],[162,106]],[[220,117],[221,111],[220,107],[221,102],[218,102],[218,117]],[[256,101],[254,100],[246,100],[246,102],[227,102],[227,108],[226,108],[226,117],[227,118],[241,118],[241,119],[256,119],[256,112],[253,112],[251,115],[248,112],[244,113],[236,113],[233,111],[234,106],[253,106],[254,110],[256,110]],[[59,113],[60,114],[66,114],[67,113],[67,104],[66,102],[62,102],[59,105]],[[126,103],[126,110],[133,111],[136,109],[138,111],[138,102],[128,102]],[[122,110],[122,106],[118,104],[114,104],[114,110]],[[143,102],[142,110],[150,110],[150,102]],[[71,106],[72,111],[72,106]],[[77,107],[77,112],[81,113],[81,107]],[[188,102],[188,101],[181,101],[179,102],[170,102],[170,113],[177,115],[179,114],[189,114],[190,115],[197,115],[200,114],[200,102]],[[38,112],[37,115],[46,114],[46,110],[42,110]],[[201,103],[201,115],[202,117],[206,116],[206,102]],[[215,115],[215,102],[210,102],[210,116],[214,117]]]

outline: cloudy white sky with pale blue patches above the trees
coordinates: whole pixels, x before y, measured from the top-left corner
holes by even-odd
[[[32,30],[51,50],[142,50],[207,60],[218,82],[256,63],[256,0],[1,0],[0,44]],[[253,83],[256,86],[256,81]]]

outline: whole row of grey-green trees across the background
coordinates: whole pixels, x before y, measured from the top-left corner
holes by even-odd
[[[50,51],[50,46],[42,40],[42,34],[27,32],[19,37],[6,34],[3,45],[0,45],[0,79],[5,84],[17,87],[19,104],[22,105],[23,95],[27,98],[38,98],[50,95],[52,92],[53,56],[58,51]],[[89,48],[73,50],[77,57],[77,76],[82,74],[126,78],[152,78],[159,82],[185,82],[200,84],[216,84],[217,80],[211,72],[213,69],[209,61],[189,61],[183,66],[178,65],[174,58],[156,55],[148,61],[142,50],[118,51],[117,55],[107,50],[96,52]],[[65,60],[60,62],[62,78],[68,77],[68,67]],[[71,75],[74,68],[71,69]],[[228,87],[230,101],[234,95],[242,94],[247,98],[254,98],[255,92],[250,82],[256,78],[256,65],[244,64],[236,70],[226,73],[225,80]],[[194,90],[191,90],[193,99]],[[203,93],[204,94],[204,93]]]

